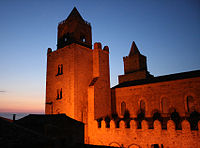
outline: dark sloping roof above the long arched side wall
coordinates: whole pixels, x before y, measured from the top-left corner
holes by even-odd
[[[147,79],[142,79],[142,80],[124,82],[124,83],[121,83],[121,84],[118,84],[118,85],[112,87],[112,89],[121,88],[121,87],[128,87],[128,86],[158,83],[158,82],[167,82],[167,81],[173,81],[173,80],[188,79],[188,78],[195,78],[195,77],[200,77],[200,70],[194,70],[194,71],[188,71],[188,72],[152,77],[152,78],[147,78]]]

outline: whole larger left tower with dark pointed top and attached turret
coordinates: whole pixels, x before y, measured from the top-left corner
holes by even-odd
[[[100,43],[94,47],[90,24],[74,8],[58,25],[57,50],[48,49],[46,114],[65,113],[87,123],[91,85],[95,86],[93,118],[110,113],[109,48],[102,49]]]

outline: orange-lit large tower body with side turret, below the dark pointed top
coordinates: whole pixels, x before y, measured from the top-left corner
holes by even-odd
[[[46,114],[65,113],[87,123],[89,85],[95,85],[95,118],[110,114],[109,51],[101,49],[100,43],[94,47],[71,44],[48,52]]]

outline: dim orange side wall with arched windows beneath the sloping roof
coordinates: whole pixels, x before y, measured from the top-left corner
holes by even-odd
[[[122,102],[126,103],[130,116],[135,118],[140,111],[141,101],[145,102],[146,117],[153,117],[156,111],[162,116],[169,116],[173,109],[184,117],[188,114],[187,96],[193,97],[195,110],[200,112],[199,77],[113,88],[112,93],[113,102],[116,102],[116,112],[121,117]],[[166,99],[167,103],[164,104],[163,99]]]

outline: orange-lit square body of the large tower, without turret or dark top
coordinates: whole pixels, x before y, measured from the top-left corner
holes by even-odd
[[[58,65],[63,74],[57,75]],[[92,49],[71,44],[48,54],[46,81],[46,114],[65,113],[78,121],[87,120],[87,88],[93,74]],[[57,90],[62,88],[62,98]]]

